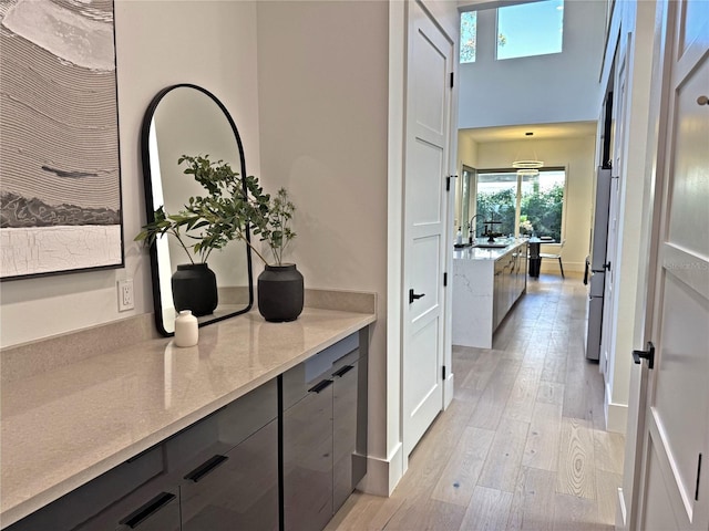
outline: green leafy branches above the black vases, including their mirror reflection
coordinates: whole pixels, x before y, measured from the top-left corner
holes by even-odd
[[[258,178],[240,177],[228,163],[212,162],[208,155],[183,155],[177,164],[183,163],[187,163],[184,173],[192,175],[207,194],[191,197],[176,214],[168,214],[161,206],[155,210],[154,220],[143,226],[135,241],[150,246],[163,235],[173,236],[194,263],[193,257],[206,262],[213,250],[224,248],[232,240],[243,240],[268,264],[246,238],[248,227],[268,243],[275,263],[280,266],[284,249],[296,236],[290,229],[295,206],[288,200],[288,192],[281,188],[271,198],[264,192]]]

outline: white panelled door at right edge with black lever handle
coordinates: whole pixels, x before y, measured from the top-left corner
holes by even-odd
[[[709,2],[664,1],[669,83],[654,226],[637,529],[709,529]],[[661,75],[661,74],[658,74]],[[643,414],[643,412],[640,412]]]

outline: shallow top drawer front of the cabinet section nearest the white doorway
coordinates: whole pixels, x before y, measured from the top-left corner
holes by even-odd
[[[284,373],[284,409],[302,399],[319,382],[331,378],[332,373],[347,363],[345,356],[352,360],[359,357],[359,332]]]

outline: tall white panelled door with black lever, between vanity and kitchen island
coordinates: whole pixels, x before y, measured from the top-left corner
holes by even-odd
[[[402,438],[408,456],[443,408],[446,205],[453,43],[409,2],[404,159]]]

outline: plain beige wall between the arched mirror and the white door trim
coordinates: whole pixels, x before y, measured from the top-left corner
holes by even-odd
[[[387,355],[389,6],[274,1],[257,12],[261,181],[298,208],[289,260],[306,288],[378,294],[368,451],[387,461],[399,440]]]

